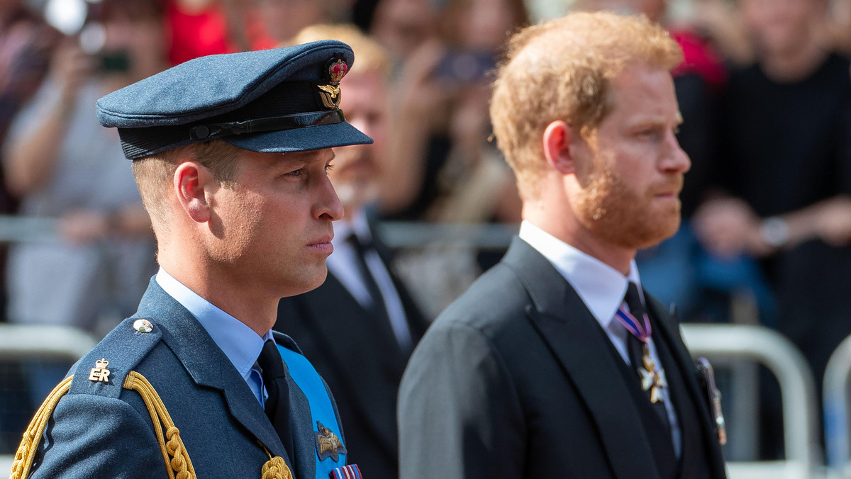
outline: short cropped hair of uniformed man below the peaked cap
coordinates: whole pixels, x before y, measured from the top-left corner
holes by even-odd
[[[195,161],[210,170],[213,179],[221,185],[231,186],[237,174],[240,149],[222,140],[180,146],[149,157],[133,161],[133,175],[142,197],[142,204],[151,217],[157,239],[168,234],[168,208],[166,192],[170,189],[174,171],[184,161]]]

